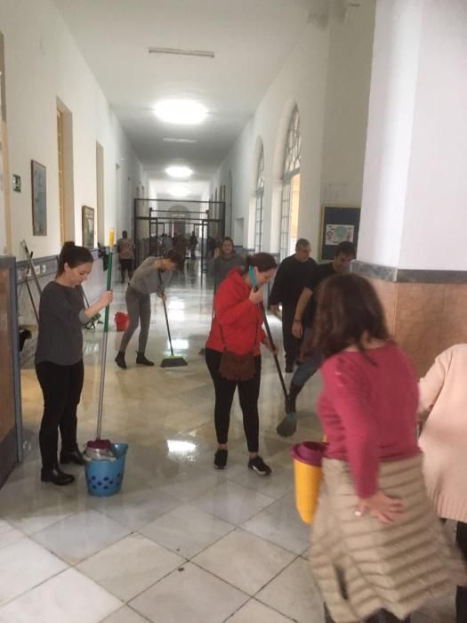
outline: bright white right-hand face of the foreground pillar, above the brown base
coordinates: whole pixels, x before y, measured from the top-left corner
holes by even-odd
[[[467,3],[424,0],[399,266],[467,270]]]

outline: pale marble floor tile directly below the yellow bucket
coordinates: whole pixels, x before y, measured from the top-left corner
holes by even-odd
[[[243,523],[242,528],[294,554],[303,554],[310,546],[310,526],[295,509],[294,492]]]

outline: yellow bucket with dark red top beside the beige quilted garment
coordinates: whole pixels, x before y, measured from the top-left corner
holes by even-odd
[[[312,523],[318,507],[321,462],[326,443],[304,441],[292,447],[295,474],[295,506],[302,522]]]

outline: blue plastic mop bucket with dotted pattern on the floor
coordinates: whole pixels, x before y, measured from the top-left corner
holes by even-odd
[[[122,489],[125,473],[127,443],[112,443],[110,449],[117,461],[96,461],[86,463],[86,484],[88,493],[97,498],[113,496]]]

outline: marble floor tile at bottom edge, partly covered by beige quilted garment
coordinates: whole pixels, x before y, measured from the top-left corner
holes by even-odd
[[[297,623],[324,623],[323,603],[309,562],[296,558],[256,599]]]

